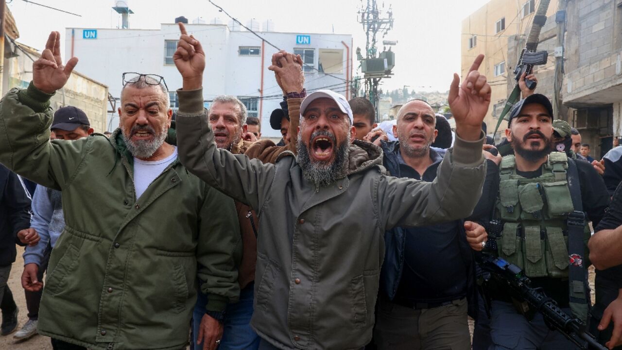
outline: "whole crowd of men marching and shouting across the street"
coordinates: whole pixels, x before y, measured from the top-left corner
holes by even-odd
[[[364,98],[307,93],[302,59],[279,51],[274,144],[237,98],[203,107],[205,52],[179,26],[174,120],[149,73],[124,73],[110,135],[53,112],[78,63],[58,32],[0,102],[2,335],[17,328],[6,281],[21,244],[29,320],[14,338],[53,349],[577,348],[490,278],[493,254],[620,349],[622,149],[588,158],[525,77],[496,147],[483,55],[453,77],[452,131],[422,100],[379,127]]]

